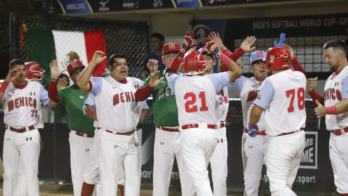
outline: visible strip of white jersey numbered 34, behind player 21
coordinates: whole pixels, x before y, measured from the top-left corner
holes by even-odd
[[[219,92],[216,93],[216,103],[215,103],[215,110],[216,110],[216,119],[220,120],[220,122],[223,122],[226,120],[227,112],[228,112],[228,89],[230,89],[230,85],[225,86],[223,89],[221,89]]]

